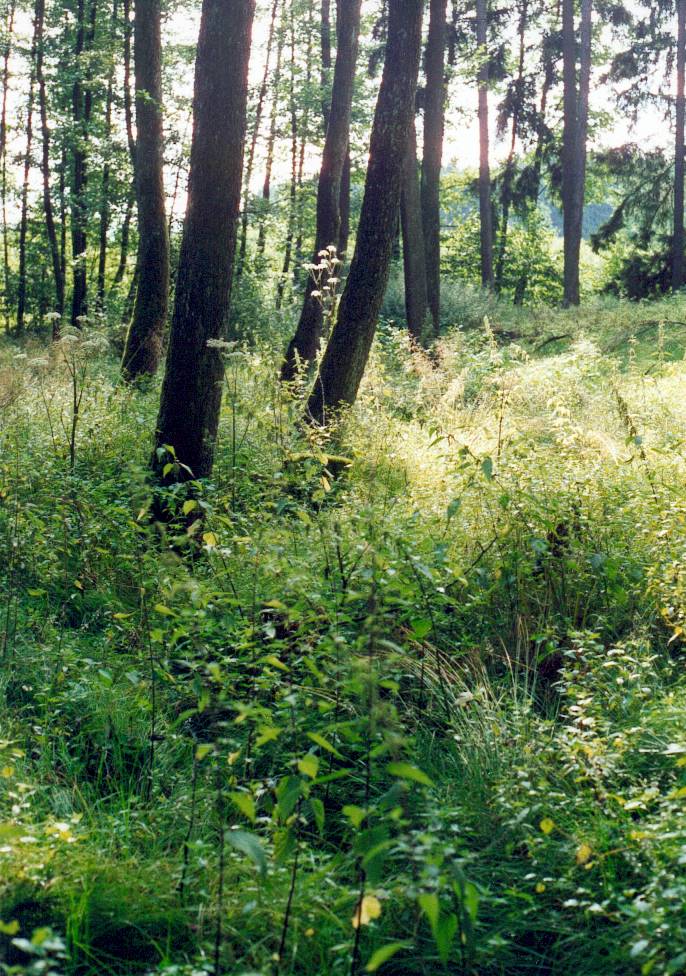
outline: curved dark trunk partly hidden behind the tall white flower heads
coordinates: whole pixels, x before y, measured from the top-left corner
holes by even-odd
[[[341,182],[350,138],[350,113],[355,85],[355,66],[360,30],[361,0],[341,0],[337,23],[337,53],[334,69],[329,124],[326,129],[324,153],[317,188],[317,229],[315,232],[314,264],[318,254],[330,244],[338,246],[341,228]],[[319,283],[320,285],[323,282]],[[313,292],[319,290],[310,276],[305,289],[298,328],[291,340],[281,378],[291,380],[298,359],[312,362],[318,351],[323,328],[323,310]]]

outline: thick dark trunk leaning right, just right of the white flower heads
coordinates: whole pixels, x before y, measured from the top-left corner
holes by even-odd
[[[407,134],[414,117],[423,0],[389,0],[388,38],[372,127],[355,254],[336,325],[308,402],[318,424],[355,402],[388,282]]]

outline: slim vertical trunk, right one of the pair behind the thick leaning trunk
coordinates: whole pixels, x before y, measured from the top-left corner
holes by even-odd
[[[447,0],[431,0],[426,45],[424,94],[424,158],[422,161],[422,224],[426,290],[438,335],[441,320],[441,164],[445,128],[445,47]]]

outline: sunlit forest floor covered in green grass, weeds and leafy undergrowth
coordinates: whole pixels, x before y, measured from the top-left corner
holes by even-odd
[[[686,972],[686,300],[473,318],[330,444],[229,352],[164,530],[158,387],[0,344],[0,971]]]

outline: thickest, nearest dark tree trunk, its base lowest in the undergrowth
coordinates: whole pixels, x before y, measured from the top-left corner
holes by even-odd
[[[219,425],[223,363],[208,342],[226,334],[254,9],[254,0],[203,0],[202,7],[188,208],[156,432],[156,447],[172,446],[197,478],[212,472]],[[161,474],[167,458],[160,454],[153,465]],[[174,476],[187,477],[184,469]]]

